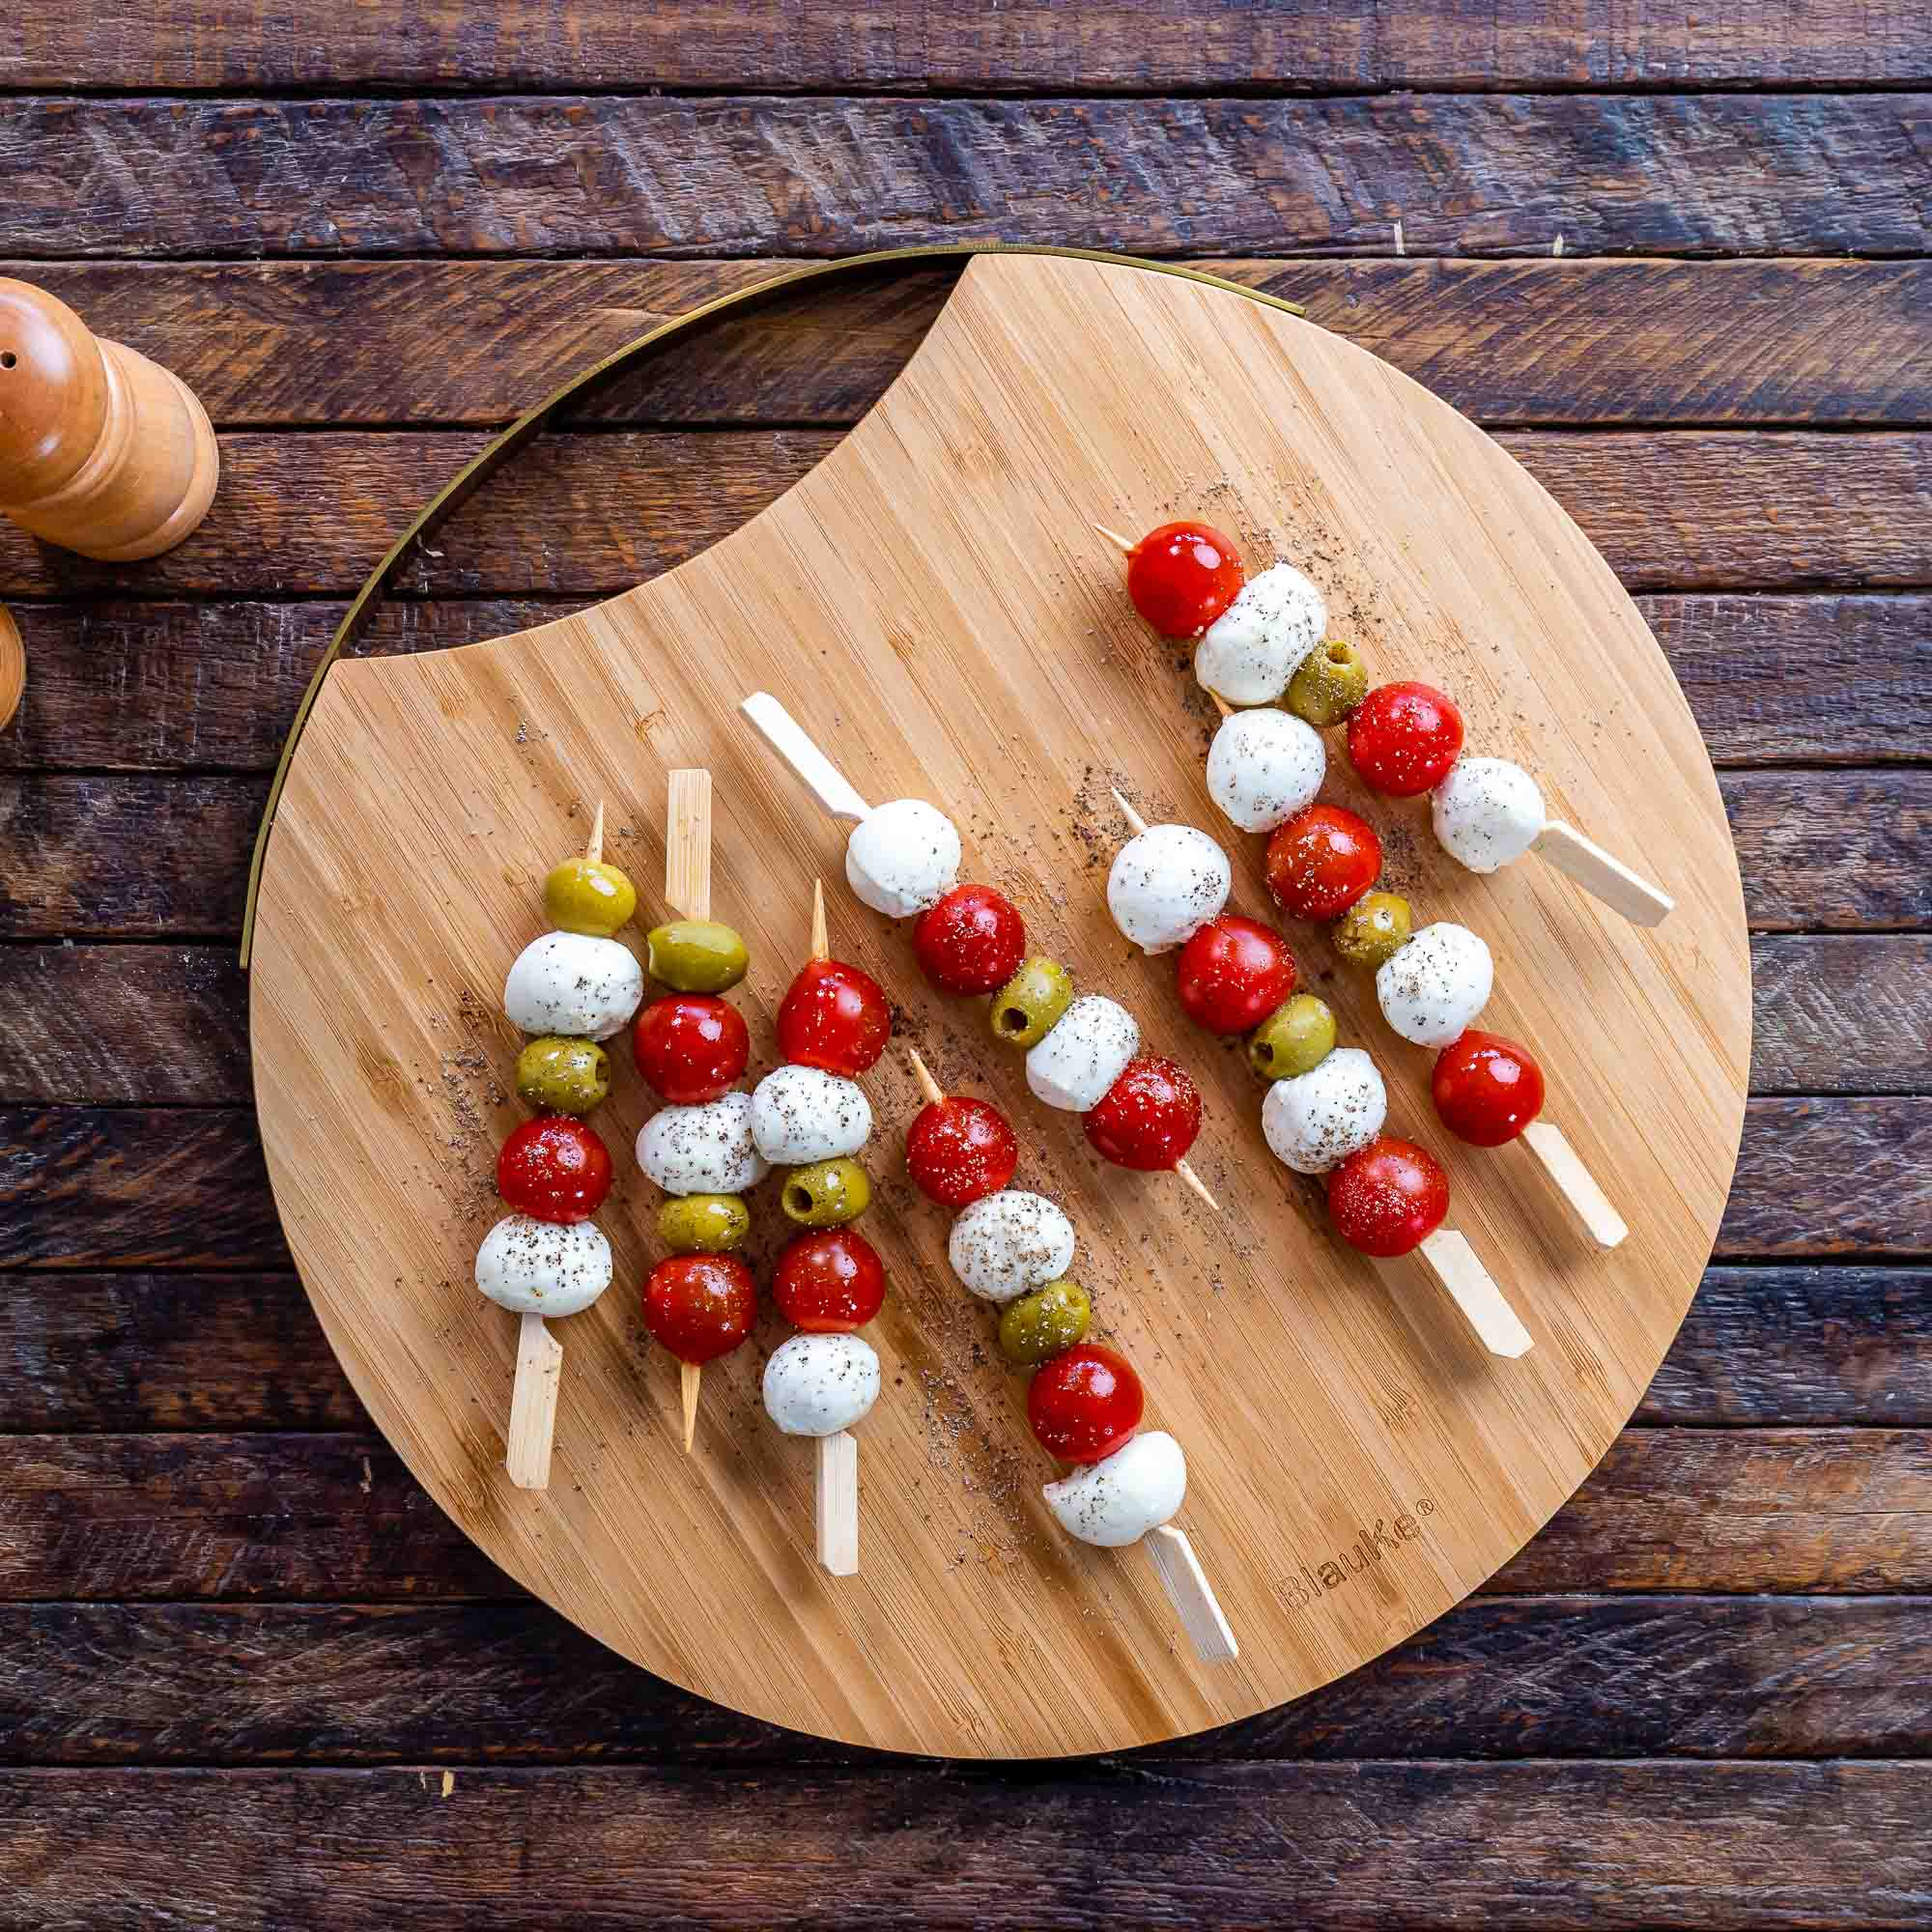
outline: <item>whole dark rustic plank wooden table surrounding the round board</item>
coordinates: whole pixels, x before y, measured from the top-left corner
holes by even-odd
[[[187,377],[224,483],[149,566],[0,531],[0,1924],[1932,1922],[1920,12],[14,21],[0,272]],[[408,1482],[288,1271],[234,941],[301,684],[491,425],[775,257],[993,236],[1293,296],[1563,498],[1721,769],[1758,1043],[1677,1349],[1482,1594],[1233,1731],[954,1774],[667,1690]],[[945,286],[781,303],[601,396],[367,647],[711,543]]]

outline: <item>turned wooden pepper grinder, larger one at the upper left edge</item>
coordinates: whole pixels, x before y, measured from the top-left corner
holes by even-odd
[[[0,514],[102,562],[155,556],[207,516],[220,458],[195,392],[64,301],[0,278]]]

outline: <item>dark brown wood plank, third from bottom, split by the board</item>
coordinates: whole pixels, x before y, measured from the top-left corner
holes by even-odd
[[[1484,1588],[1924,1594],[1928,1482],[1924,1430],[1627,1430]],[[377,1435],[0,1435],[0,1600],[514,1594]]]

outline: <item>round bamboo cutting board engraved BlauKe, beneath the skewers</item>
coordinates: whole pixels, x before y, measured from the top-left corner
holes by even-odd
[[[1374,989],[1291,927],[1345,1037],[1389,1074],[1391,1130],[1451,1169],[1455,1221],[1534,1349],[1482,1352],[1410,1262],[1372,1265],[1320,1192],[1269,1155],[1238,1049],[1182,1016],[1171,962],[1107,920],[1121,786],[1213,831],[1231,910],[1265,916],[1260,844],[1208,802],[1213,717],[1136,618],[1094,522],[1204,516],[1250,562],[1287,556],[1378,678],[1457,696],[1472,748],[1544,781],[1677,898],[1625,925],[1534,860],[1480,879],[1426,813],[1325,796],[1381,827],[1391,883],[1486,933],[1484,1024],[1528,1041],[1548,1117],[1631,1221],[1602,1254],[1522,1148],[1455,1144],[1430,1055]],[[738,717],[777,694],[871,800],[925,796],[966,877],[1022,906],[1032,945],[1140,1014],[1208,1099],[1194,1165],[1103,1167],[1032,1103],[983,1001],[931,993],[906,927],[844,889],[844,827]],[[516,1320],[471,1285],[518,1039],[502,978],[541,927],[547,867],[609,802],[607,856],[663,916],[667,773],[715,779],[715,916],[752,945],[734,995],[753,1074],[796,968],[811,881],[833,951],[902,1003],[941,1084],[1007,1109],[1020,1184],[1059,1196],[1095,1333],[1148,1383],[1190,1464],[1182,1522],[1240,1640],[1202,1665],[1140,1551],[1051,1526],[1022,1383],[989,1310],[945,1265],[947,1217],[902,1175],[918,1097],[900,1053],[867,1076],[885,1180],[866,1229],[891,1277],[871,1335],[885,1389],[860,1426],[862,1567],[813,1563],[811,1449],[757,1395],[784,1325],[703,1379],[682,1449],[678,1376],[643,1335],[659,1250],[632,1138],[649,1095],[618,1066],[597,1126],[618,1163],[599,1215],[616,1285],[556,1323],[547,1492],[502,1457]],[[976,259],[858,429],[724,543],[580,616],[458,651],[338,663],[267,848],[253,962],[255,1082],[290,1246],[377,1424],[510,1575],[638,1663],[827,1737],[951,1756],[1111,1750],[1294,1698],[1437,1617],[1582,1482],[1648,1383],[1710,1254],[1737,1151],[1750,1036],[1743,895],[1718,784],[1669,668],[1607,566],[1493,442],[1383,363],[1238,294],[1090,261]],[[618,1043],[622,1045],[622,1041]],[[784,1223],[753,1198],[757,1258]],[[761,1279],[769,1265],[761,1265]]]

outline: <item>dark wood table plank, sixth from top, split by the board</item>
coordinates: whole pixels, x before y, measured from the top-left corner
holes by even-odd
[[[1731,771],[1721,786],[1754,927],[1932,923],[1932,771]],[[238,933],[265,800],[257,777],[0,777],[0,937]],[[0,980],[35,970],[0,951]]]

